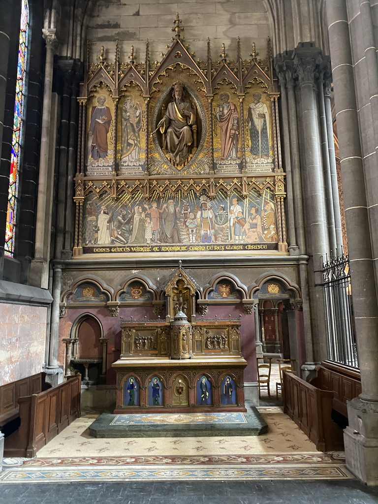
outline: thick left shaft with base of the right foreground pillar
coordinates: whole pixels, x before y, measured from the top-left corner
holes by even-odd
[[[350,40],[350,20],[345,0],[327,0],[326,8],[362,387],[360,396],[348,403],[349,425],[344,430],[346,464],[348,469],[364,483],[376,485],[378,484],[376,464],[378,460],[378,305],[374,280],[375,257],[372,255],[370,236],[375,236],[377,226],[375,218],[372,218],[372,214],[369,215],[366,195],[366,192],[371,194],[375,191],[376,193],[376,181],[370,177],[370,172],[364,172],[361,152],[361,124],[358,121],[351,50],[351,43],[357,46],[359,41]],[[363,33],[359,33],[358,37],[363,37]],[[376,67],[376,59],[372,64]],[[372,118],[372,124],[376,124],[376,121],[375,116]],[[366,128],[367,124],[364,124],[364,127]],[[370,188],[368,188],[369,185]]]

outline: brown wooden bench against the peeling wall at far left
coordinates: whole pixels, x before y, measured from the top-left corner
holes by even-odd
[[[37,373],[0,387],[0,429],[19,416],[18,400],[51,388],[46,374]]]

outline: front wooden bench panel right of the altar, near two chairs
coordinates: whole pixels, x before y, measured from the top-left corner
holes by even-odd
[[[343,450],[343,430],[331,418],[333,391],[320,390],[293,373],[283,372],[284,413],[321,452]]]

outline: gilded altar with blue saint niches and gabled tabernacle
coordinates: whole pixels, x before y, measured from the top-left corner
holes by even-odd
[[[180,265],[164,288],[165,320],[121,319],[114,413],[246,411],[240,319],[196,320],[196,289]]]

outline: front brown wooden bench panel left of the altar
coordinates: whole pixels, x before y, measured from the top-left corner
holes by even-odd
[[[19,398],[20,428],[5,438],[6,457],[35,457],[38,450],[80,416],[81,376]]]

